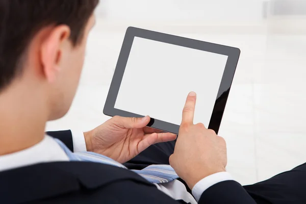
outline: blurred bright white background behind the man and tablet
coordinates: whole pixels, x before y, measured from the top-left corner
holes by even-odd
[[[77,96],[47,130],[88,131],[109,119],[104,103],[134,26],[241,49],[219,132],[238,182],[306,162],[306,1],[100,0],[96,16]]]

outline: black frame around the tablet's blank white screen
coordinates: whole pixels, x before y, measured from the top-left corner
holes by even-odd
[[[105,103],[103,113],[108,116],[118,115],[118,116],[123,116],[123,117],[144,117],[143,115],[138,115],[135,113],[131,113],[131,112],[127,112],[127,111],[123,111],[123,110],[114,108],[116,99],[117,99],[117,95],[119,92],[119,88],[121,85],[121,81],[123,78],[124,70],[127,64],[127,60],[129,59],[129,55],[131,52],[134,37],[155,40],[159,42],[189,47],[193,49],[199,49],[199,50],[207,51],[210,53],[216,53],[216,54],[228,56],[226,66],[224,69],[224,73],[223,73],[223,77],[222,77],[222,81],[221,81],[218,95],[216,98],[216,103],[215,103],[213,113],[211,116],[211,120],[208,126],[209,129],[214,130],[218,134],[222,116],[223,116],[224,109],[225,109],[225,105],[226,105],[226,101],[227,101],[227,97],[228,97],[228,94],[230,93],[234,74],[235,74],[236,67],[238,64],[238,60],[240,56],[240,49],[236,47],[219,45],[219,44],[214,44],[210,42],[204,42],[204,41],[159,33],[155,31],[148,31],[148,30],[134,28],[134,27],[129,27],[126,30],[126,34],[124,37],[121,52],[119,55],[119,59],[118,59],[115,73],[113,76],[113,80],[112,80],[112,83],[109,89],[109,93],[107,96],[107,100]],[[149,122],[148,126],[153,127],[155,129],[165,131],[165,132],[174,133],[174,134],[179,134],[179,129],[180,129],[180,125],[161,121],[155,118],[151,118],[151,121]]]

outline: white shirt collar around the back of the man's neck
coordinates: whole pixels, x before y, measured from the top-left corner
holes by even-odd
[[[42,162],[60,161],[69,161],[69,158],[52,137],[45,136],[41,142],[30,148],[0,156],[0,171]]]

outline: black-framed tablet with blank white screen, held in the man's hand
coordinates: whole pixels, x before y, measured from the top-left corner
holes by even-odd
[[[178,134],[187,95],[194,91],[194,123],[218,133],[239,55],[235,47],[129,27],[104,114],[148,115],[148,126]]]

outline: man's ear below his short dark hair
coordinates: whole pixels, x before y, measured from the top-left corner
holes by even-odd
[[[69,40],[70,29],[66,25],[59,25],[52,29],[41,44],[41,65],[43,74],[49,83],[53,83],[60,72],[60,61]]]

